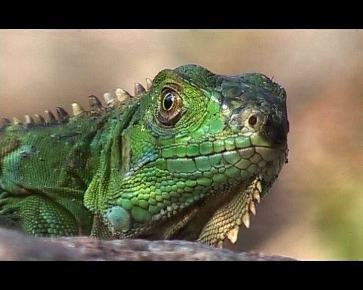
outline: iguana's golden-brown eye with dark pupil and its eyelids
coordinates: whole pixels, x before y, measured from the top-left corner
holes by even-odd
[[[175,125],[183,113],[183,101],[175,91],[169,88],[161,92],[160,99],[159,121],[164,125]]]

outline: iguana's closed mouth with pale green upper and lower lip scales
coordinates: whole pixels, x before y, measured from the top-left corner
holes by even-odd
[[[251,146],[252,142],[255,143],[253,146]],[[129,169],[125,177],[131,177],[143,166],[167,169],[173,175],[193,174],[197,171],[206,172],[214,168],[211,176],[218,173],[223,174],[223,169],[219,168],[224,168],[227,172],[226,177],[238,177],[238,170],[241,171],[241,177],[247,177],[264,168],[281,154],[287,154],[286,143],[272,146],[259,136],[255,138],[229,137],[217,139],[214,142],[192,144],[192,146],[197,148],[197,153],[191,150],[188,152],[190,148],[188,146],[173,146],[163,148],[159,153],[159,158],[157,153],[145,156]],[[180,147],[184,147],[184,151],[179,150]]]

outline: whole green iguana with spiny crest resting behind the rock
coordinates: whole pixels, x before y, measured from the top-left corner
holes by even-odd
[[[235,243],[287,162],[285,90],[268,77],[165,69],[135,96],[0,129],[0,225],[37,237]]]

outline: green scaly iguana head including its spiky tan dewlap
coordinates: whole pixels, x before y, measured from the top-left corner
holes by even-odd
[[[105,223],[119,238],[234,243],[287,160],[288,130],[285,90],[264,75],[162,70],[120,138]]]

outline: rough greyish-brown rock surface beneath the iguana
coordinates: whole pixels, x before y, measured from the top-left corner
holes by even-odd
[[[294,260],[234,253],[187,241],[113,240],[88,237],[39,239],[0,229],[0,260]]]

